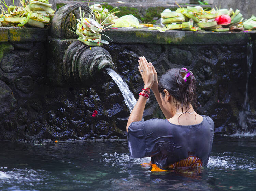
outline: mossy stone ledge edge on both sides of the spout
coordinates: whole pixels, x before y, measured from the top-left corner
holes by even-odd
[[[49,27],[1,27],[0,42],[45,41],[49,36]],[[159,32],[147,28],[117,28],[106,29],[102,39],[117,44],[173,44],[173,45],[236,45],[246,44],[256,39],[256,31],[250,32],[193,32],[168,30]],[[65,39],[62,39],[65,40]]]

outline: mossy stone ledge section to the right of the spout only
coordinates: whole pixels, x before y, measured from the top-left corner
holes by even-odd
[[[159,32],[146,28],[118,28],[102,32],[113,43],[179,44],[179,45],[236,45],[246,44],[251,33],[244,32],[193,32],[168,30]],[[253,33],[254,34],[254,33]],[[102,39],[110,41],[107,37]]]

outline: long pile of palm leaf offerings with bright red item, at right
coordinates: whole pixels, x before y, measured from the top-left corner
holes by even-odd
[[[256,17],[252,16],[242,23],[244,18],[240,10],[233,11],[232,8],[217,10],[213,8],[207,11],[201,6],[187,6],[187,8],[177,8],[176,11],[166,9],[161,13],[161,18],[161,24],[169,30],[197,31],[200,29],[224,32],[243,31],[244,28],[256,29]],[[190,21],[192,26],[185,21]]]

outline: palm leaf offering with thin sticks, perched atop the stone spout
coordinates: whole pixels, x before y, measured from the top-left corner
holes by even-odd
[[[82,16],[81,7],[79,7],[79,11],[80,19],[76,19],[78,23],[76,25],[76,30],[74,29],[75,31],[73,31],[79,36],[78,40],[88,46],[101,46],[103,44],[109,44],[108,41],[101,40],[102,34],[100,34],[100,32],[102,32],[103,29],[108,28],[103,28],[104,25],[102,25],[102,23],[104,21],[102,21],[102,23],[99,23],[97,20],[92,19],[91,16],[93,11],[88,18],[84,17],[85,13],[83,13]]]

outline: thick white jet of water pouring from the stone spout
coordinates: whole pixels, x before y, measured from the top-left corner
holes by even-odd
[[[133,93],[130,91],[128,85],[123,81],[122,77],[111,68],[106,68],[106,71],[119,87],[124,97],[125,104],[129,108],[129,111],[132,112],[132,109],[134,108],[137,101],[134,98]],[[142,118],[142,121],[144,121],[143,118]]]

